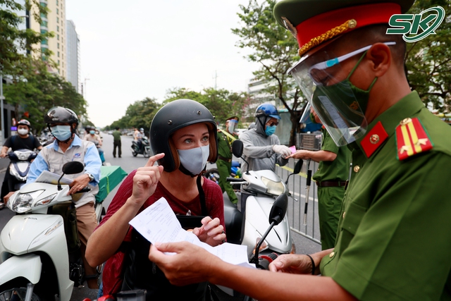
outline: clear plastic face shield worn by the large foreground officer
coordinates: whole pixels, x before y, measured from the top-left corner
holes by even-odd
[[[385,44],[392,45],[395,42]],[[367,127],[356,90],[347,80],[349,74],[344,73],[340,62],[362,54],[371,46],[343,56],[335,56],[332,51],[320,49],[310,56],[303,56],[288,70],[338,146],[359,139],[366,133]]]

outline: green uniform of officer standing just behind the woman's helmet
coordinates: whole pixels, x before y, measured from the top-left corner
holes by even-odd
[[[238,138],[237,135],[233,135],[233,137]],[[226,181],[226,178],[230,177],[230,168],[232,168],[232,143],[231,137],[218,131],[218,161],[216,161],[216,166],[219,173],[219,186],[223,192],[227,192],[230,202],[237,204],[237,195],[235,195],[232,185]]]

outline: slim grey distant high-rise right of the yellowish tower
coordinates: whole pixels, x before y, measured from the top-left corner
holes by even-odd
[[[72,20],[66,21],[67,76],[77,92],[80,92],[80,39]]]

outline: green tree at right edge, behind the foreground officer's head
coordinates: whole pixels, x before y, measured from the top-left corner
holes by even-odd
[[[449,0],[416,0],[409,13],[433,6],[445,9],[445,20],[435,35],[407,43],[407,78],[425,104],[449,113],[451,109],[451,2]],[[425,17],[423,17],[425,18]]]

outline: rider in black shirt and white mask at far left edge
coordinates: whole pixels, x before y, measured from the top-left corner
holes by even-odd
[[[42,145],[35,136],[30,135],[31,124],[30,121],[22,119],[17,125],[17,135],[8,137],[6,139],[3,147],[1,148],[0,158],[6,157],[8,149],[14,151],[18,149],[42,149]],[[4,197],[8,195],[9,192],[13,191],[13,182],[11,181],[11,174],[9,173],[9,167],[6,170],[3,185],[1,186],[1,196],[0,196],[0,209],[4,207]]]

